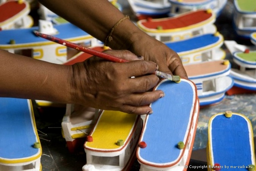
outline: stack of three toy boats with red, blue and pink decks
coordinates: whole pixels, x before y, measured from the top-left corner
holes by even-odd
[[[139,20],[141,30],[164,42],[181,57],[188,78],[196,83],[200,106],[220,102],[233,86],[230,64],[223,61],[224,39],[212,10],[198,9],[173,17]]]

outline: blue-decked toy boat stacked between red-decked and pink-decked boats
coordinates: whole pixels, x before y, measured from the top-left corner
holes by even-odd
[[[226,53],[220,47],[224,39],[220,33],[194,36],[190,39],[164,42],[181,57],[183,64],[224,59]]]

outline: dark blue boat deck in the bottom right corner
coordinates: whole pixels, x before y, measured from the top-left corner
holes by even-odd
[[[251,155],[254,155],[252,151],[254,147],[250,140],[249,123],[245,118],[234,113],[231,118],[217,115],[212,120],[213,162],[221,166],[229,166],[229,169],[221,168],[221,171],[230,170],[230,166],[248,166],[254,163],[252,161],[254,157]],[[246,168],[232,170],[248,171]]]

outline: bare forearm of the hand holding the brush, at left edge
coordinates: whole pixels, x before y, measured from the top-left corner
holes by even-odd
[[[67,103],[69,67],[0,50],[0,96]]]

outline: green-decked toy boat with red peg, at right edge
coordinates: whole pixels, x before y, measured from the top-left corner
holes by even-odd
[[[256,51],[235,52],[233,61],[239,68],[232,68],[230,76],[234,85],[243,89],[256,90]]]

